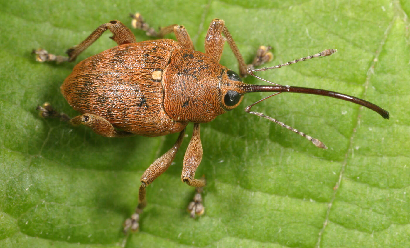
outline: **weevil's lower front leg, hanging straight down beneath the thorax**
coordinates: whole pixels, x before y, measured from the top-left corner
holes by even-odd
[[[204,207],[202,205],[202,188],[205,186],[204,176],[201,179],[195,179],[196,168],[202,160],[202,144],[200,138],[199,123],[194,124],[194,131],[192,132],[191,141],[184,156],[184,164],[182,166],[181,180],[187,183],[189,186],[196,187],[196,194],[194,201],[188,205],[188,210],[191,212],[191,217],[194,218],[195,214],[202,215],[204,213]]]

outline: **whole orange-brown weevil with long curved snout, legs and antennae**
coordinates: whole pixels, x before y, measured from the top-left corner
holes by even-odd
[[[194,178],[203,155],[200,123],[210,122],[216,116],[235,109],[245,93],[274,92],[246,107],[245,111],[278,123],[304,136],[320,148],[326,146],[318,139],[275,118],[253,112],[251,108],[282,92],[308,93],[354,102],[376,111],[383,118],[389,118],[389,113],[384,109],[356,97],[328,90],[282,86],[254,74],[303,60],[329,56],[335,53],[333,49],[273,67],[255,69],[272,59],[270,47],[261,46],[253,63],[246,65],[221,19],[214,19],[211,22],[205,38],[205,53],[202,53],[195,51],[184,26],[169,25],[156,32],[140,14],[131,16],[134,28],[142,29],[147,35],[160,39],[137,42],[130,29],[120,21],[114,20],[100,25],[83,42],[68,49],[68,57],[55,56],[44,49],[33,51],[40,62],[73,62],[103,32],[110,30],[114,34],[111,38],[118,46],[78,63],[61,86],[68,104],[82,114],[70,118],[46,103],[42,107],[37,107],[41,116],[60,118],[73,125],[82,124],[105,137],[128,137],[135,134],[155,137],[179,132],[178,139],[171,149],[155,160],[141,176],[138,206],[135,213],[125,220],[124,232],[129,229],[136,231],[139,228],[139,218],[146,206],[146,186],[171,165],[181,146],[188,123],[194,123],[194,129],[185,152],[181,180],[189,186],[196,187],[197,190],[194,201],[189,204],[191,216],[204,212],[200,193],[205,186],[205,178]],[[164,35],[171,32],[175,34],[177,41],[163,39]],[[219,64],[225,42],[228,42],[239,63],[240,76]],[[243,83],[241,77],[246,75],[254,76],[271,85]]]

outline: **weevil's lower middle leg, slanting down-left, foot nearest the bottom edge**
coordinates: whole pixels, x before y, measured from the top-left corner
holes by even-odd
[[[132,231],[137,231],[139,224],[139,216],[141,215],[144,207],[147,205],[146,201],[146,191],[145,187],[152,183],[155,178],[161,175],[163,172],[168,169],[169,165],[171,165],[172,160],[175,158],[175,154],[177,153],[178,149],[182,144],[182,140],[184,139],[185,129],[180,132],[177,141],[172,146],[169,151],[167,151],[164,155],[160,158],[157,158],[148,169],[142,174],[141,176],[141,186],[139,187],[138,193],[138,206],[135,209],[135,213],[132,214],[131,218],[128,218],[124,222],[124,232],[128,232],[131,228]]]

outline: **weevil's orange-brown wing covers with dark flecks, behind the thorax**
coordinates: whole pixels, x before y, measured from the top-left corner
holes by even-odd
[[[153,79],[164,71],[173,51],[171,39],[116,46],[78,63],[61,86],[68,103],[81,113],[105,118],[114,127],[143,136],[180,132],[187,122],[164,110],[164,88]]]

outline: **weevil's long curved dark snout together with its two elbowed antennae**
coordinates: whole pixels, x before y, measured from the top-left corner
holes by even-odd
[[[249,68],[247,70],[247,73],[250,74],[251,76],[254,76],[257,79],[260,79],[262,81],[265,81],[267,83],[271,83],[273,85],[253,85],[253,84],[248,84],[248,83],[244,83],[241,85],[241,88],[243,90],[242,93],[250,93],[250,92],[276,92],[268,97],[265,97],[251,105],[249,105],[248,107],[245,108],[246,113],[249,114],[254,114],[263,118],[266,118],[270,121],[273,121],[274,123],[277,123],[279,125],[281,125],[282,127],[286,127],[288,130],[291,130],[293,132],[296,132],[297,134],[305,137],[306,139],[312,141],[312,143],[319,147],[319,148],[324,148],[326,149],[327,147],[325,146],[325,144],[323,144],[323,142],[321,142],[319,139],[313,138],[303,132],[300,132],[299,130],[286,125],[285,123],[282,123],[278,120],[276,120],[275,118],[272,118],[270,116],[266,116],[263,113],[259,113],[259,112],[253,112],[251,111],[251,108],[255,105],[258,104],[266,99],[268,99],[269,97],[273,97],[274,95],[278,95],[282,92],[293,92],[293,93],[305,93],[305,94],[313,94],[313,95],[324,95],[324,96],[328,96],[328,97],[334,97],[337,99],[341,99],[341,100],[345,100],[348,102],[353,102],[359,105],[362,105],[364,107],[367,107],[373,111],[376,111],[378,114],[380,114],[380,116],[382,116],[383,118],[388,119],[389,118],[389,112],[387,112],[385,109],[382,109],[380,107],[378,107],[376,104],[373,104],[371,102],[367,102],[366,100],[357,98],[357,97],[353,97],[350,95],[345,95],[342,93],[337,93],[334,91],[329,91],[329,90],[321,90],[321,89],[315,89],[315,88],[304,88],[304,87],[294,87],[294,86],[283,86],[277,83],[272,83],[271,81],[268,81],[266,79],[262,79],[259,76],[256,76],[255,74],[253,74],[253,72],[260,72],[260,71],[266,71],[266,70],[271,70],[271,69],[276,69],[276,68],[280,68],[286,65],[292,65],[295,63],[298,63],[300,61],[304,61],[304,60],[309,60],[312,58],[319,58],[319,57],[325,57],[325,56],[330,56],[333,53],[335,53],[337,50],[335,49],[327,49],[324,51],[321,51],[320,53],[316,53],[314,55],[311,56],[307,56],[307,57],[303,57],[297,60],[293,60],[293,61],[289,61],[287,63],[284,64],[280,64],[280,65],[275,65],[272,67],[264,67],[264,68],[260,68],[260,69],[251,69]]]

